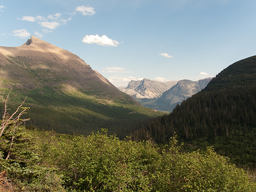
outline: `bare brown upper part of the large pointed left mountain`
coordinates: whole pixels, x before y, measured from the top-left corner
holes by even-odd
[[[34,36],[19,47],[0,47],[0,59],[1,76],[17,88],[57,85],[66,92],[104,90],[108,96],[114,92],[126,97],[75,54]]]

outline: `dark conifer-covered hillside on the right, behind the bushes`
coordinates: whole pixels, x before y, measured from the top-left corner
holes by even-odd
[[[148,131],[159,144],[176,132],[184,150],[214,146],[231,162],[256,168],[256,56],[240,60],[220,72],[198,94],[173,112],[144,122],[134,139]]]

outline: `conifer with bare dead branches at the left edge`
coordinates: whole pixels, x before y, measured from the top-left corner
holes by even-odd
[[[9,94],[8,94],[9,96]],[[37,150],[36,136],[21,126],[29,119],[21,119],[28,110],[22,104],[13,114],[9,114],[7,108],[8,96],[5,101],[5,110],[0,126],[0,172],[8,174],[12,183],[16,186],[15,191],[49,191],[52,187],[61,187],[61,182],[55,173],[56,170],[40,166],[40,156]],[[21,112],[18,112],[19,110]],[[54,175],[47,179],[47,175]],[[6,175],[5,175],[6,178]],[[7,181],[8,178],[6,178]],[[44,184],[42,184],[44,182]],[[46,186],[50,184],[50,187]],[[12,185],[10,185],[12,186]],[[49,188],[49,189],[48,189]],[[11,188],[13,189],[13,188]],[[58,190],[61,191],[61,190]]]

